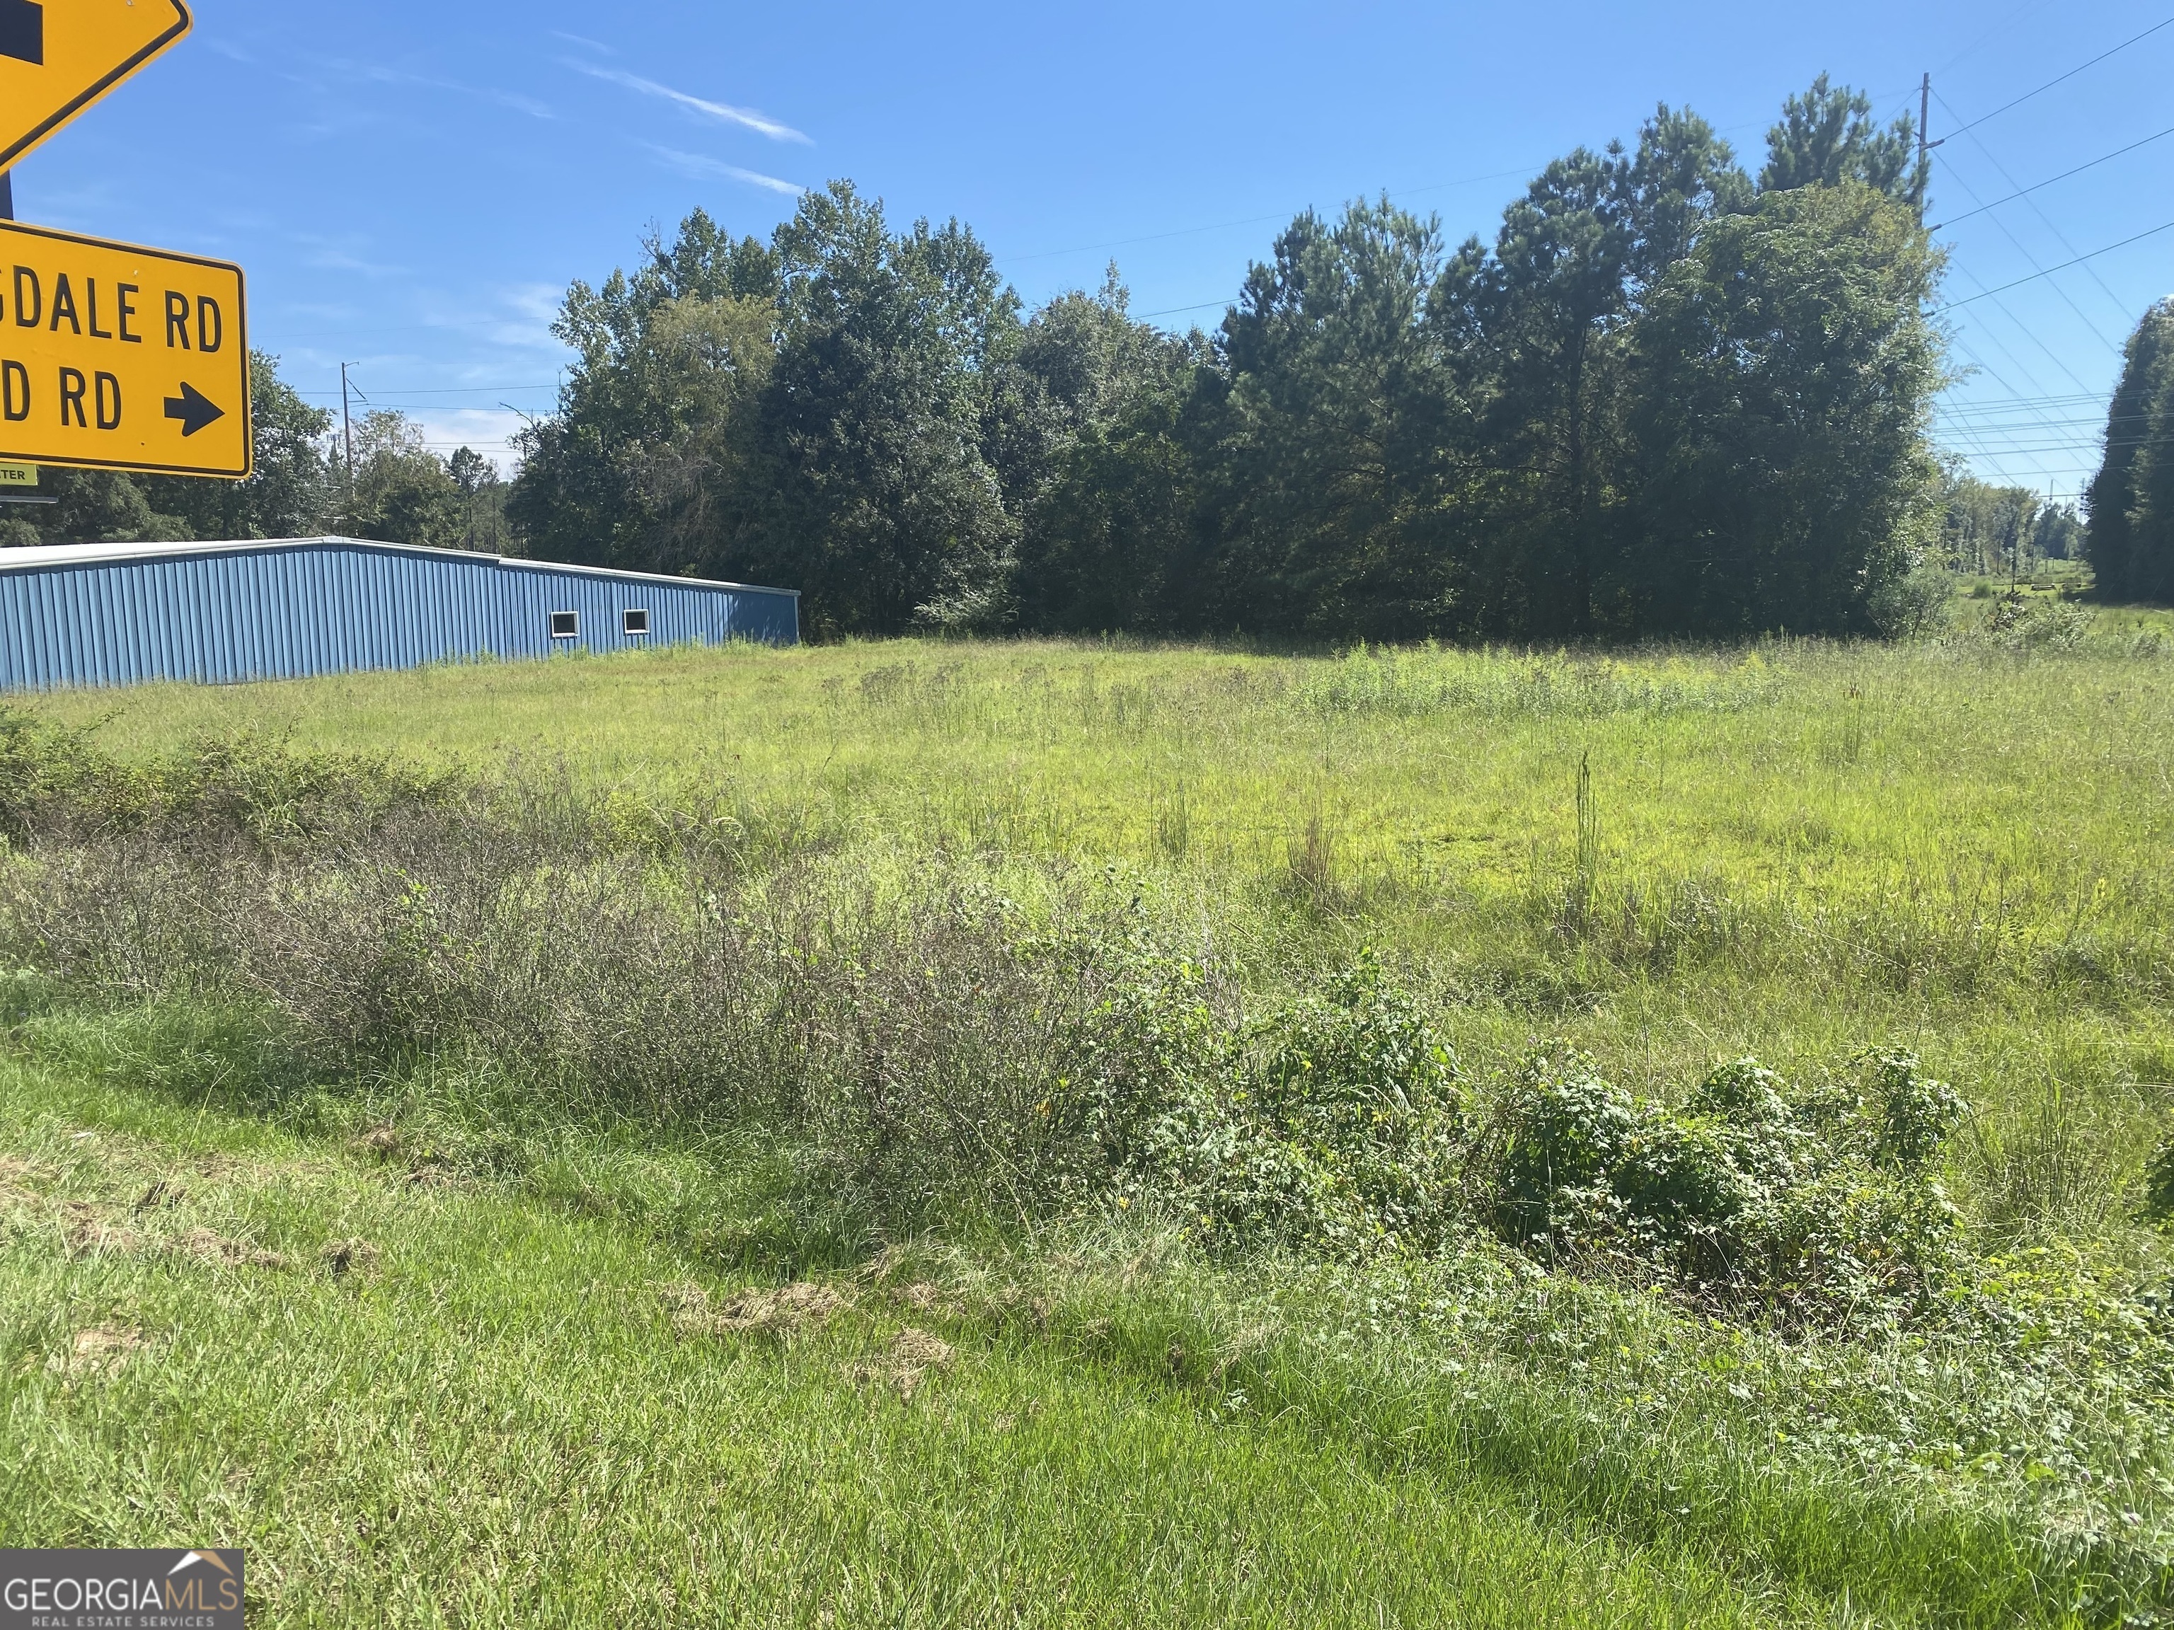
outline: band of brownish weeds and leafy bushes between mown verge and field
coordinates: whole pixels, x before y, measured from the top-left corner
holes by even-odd
[[[378,767],[257,743],[146,774],[143,813],[93,826],[109,769],[80,739],[13,763],[0,924],[43,976],[263,1004],[320,1074],[470,1058],[596,1121],[754,1130],[870,1241],[1137,1204],[1215,1252],[1359,1261],[1489,1226],[1783,1321],[1922,1315],[1967,1271],[1931,1176],[1961,1100],[1900,1054],[1861,1098],[1746,1058],[1681,1111],[1559,1050],[1472,1084],[1372,954],[1248,1000],[1113,878],[1035,908],[961,872],[891,893],[752,867],[700,824],[628,841],[563,785],[363,798]],[[1591,913],[1585,761],[1576,811]]]

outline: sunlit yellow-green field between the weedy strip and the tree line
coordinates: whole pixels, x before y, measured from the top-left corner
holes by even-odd
[[[1454,998],[1472,1058],[1561,1032],[1657,1093],[1739,1052],[1815,1067],[1902,1039],[1970,1087],[1972,1176],[2022,1184],[2024,1211],[2102,1211],[2174,1082],[2167,1008],[2131,989],[2174,921],[2174,663],[2157,656],[891,643],[41,709],[137,756],[257,730],[565,767],[633,811],[700,811],[850,867],[1117,865],[1254,978],[1374,941]],[[1574,889],[1591,930],[1567,935]],[[2039,1134],[2083,1139],[2091,1165]]]

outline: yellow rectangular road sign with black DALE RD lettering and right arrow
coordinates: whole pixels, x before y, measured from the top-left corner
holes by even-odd
[[[0,222],[4,461],[250,474],[241,267]]]

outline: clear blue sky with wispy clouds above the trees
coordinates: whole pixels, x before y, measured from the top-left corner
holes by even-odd
[[[1654,102],[1757,163],[1813,74],[1894,113],[1931,70],[1933,135],[1961,130],[1933,217],[1994,204],[1939,235],[1974,369],[1941,439],[2074,493],[2117,348],[2174,291],[2174,230],[2035,274],[2174,222],[2174,26],[2124,46],[2165,22],[2174,0],[200,0],[196,35],[26,159],[15,198],[26,222],[241,261],[252,339],[311,400],[337,404],[348,361],[433,443],[498,452],[552,404],[567,280],[694,204],[767,233],[796,187],[852,176],[894,220],[972,224],[1028,302],[1115,259],[1135,313],[1213,324],[1300,206],[1387,189],[1450,241],[1491,237],[1533,170],[1633,137]]]

